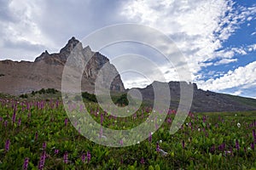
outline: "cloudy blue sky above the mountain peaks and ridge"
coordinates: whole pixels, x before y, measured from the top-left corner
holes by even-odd
[[[0,59],[34,60],[45,49],[59,51],[73,36],[82,39],[104,26],[127,22],[153,27],[172,38],[199,88],[256,98],[253,0],[0,0]],[[110,59],[129,52],[150,55],[134,44],[101,52]],[[172,68],[160,65],[160,69],[167,81],[176,80]],[[133,73],[121,77],[125,88],[150,83]]]

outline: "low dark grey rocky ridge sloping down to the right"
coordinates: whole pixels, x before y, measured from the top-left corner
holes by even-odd
[[[154,82],[153,82],[154,83]],[[167,83],[167,82],[162,82]],[[193,86],[193,102],[190,111],[217,112],[217,111],[256,111],[256,99],[248,99],[230,94],[218,94],[198,89],[195,83],[168,82],[170,88],[170,107],[177,110],[180,102],[180,83],[184,86]],[[149,105],[154,103],[154,88],[152,84],[146,88],[137,88],[143,95],[143,100]]]

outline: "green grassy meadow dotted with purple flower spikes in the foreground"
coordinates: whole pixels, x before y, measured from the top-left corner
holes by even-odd
[[[56,106],[55,100],[41,101],[42,105],[38,102],[0,100],[0,169],[22,169],[26,157],[29,158],[28,169],[38,169],[44,143],[44,169],[256,168],[256,150],[250,148],[253,129],[256,127],[249,126],[256,119],[256,111],[189,114],[183,127],[173,135],[169,133],[172,123],[167,120],[173,120],[175,115],[169,114],[160,129],[153,134],[151,142],[146,139],[140,144],[111,148],[84,138],[69,121],[65,126],[67,114],[61,103]],[[13,105],[17,105],[15,122],[12,120],[15,108]],[[30,105],[29,109],[27,105]],[[86,105],[96,122],[101,122],[101,116],[96,112],[101,114],[103,111],[95,103]],[[136,119],[129,116],[116,121],[105,115],[103,125],[113,129],[136,127],[147,119],[148,112],[151,111],[150,108],[141,109],[137,112]],[[142,115],[144,118],[141,118]],[[8,122],[6,127],[4,122]],[[237,123],[241,127],[237,127]],[[36,133],[38,139],[35,139]],[[8,139],[9,150],[5,150]],[[236,149],[236,139],[240,150]],[[167,156],[161,156],[156,151],[156,144],[160,140],[160,149],[165,150]],[[218,149],[221,144],[225,144],[224,150]],[[213,145],[215,150],[211,150]],[[59,150],[59,153],[55,154],[55,150]],[[66,151],[68,162],[64,163]],[[91,160],[83,162],[81,156],[84,153],[86,155],[87,151],[90,151]],[[144,162],[141,162],[142,159]]]

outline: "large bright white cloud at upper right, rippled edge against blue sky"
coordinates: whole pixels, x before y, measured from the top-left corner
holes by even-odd
[[[131,0],[121,14],[128,19],[153,26],[177,43],[194,74],[206,66],[204,61],[220,57],[215,52],[247,20],[256,8],[238,7],[225,0],[170,1]],[[218,56],[217,56],[218,55]],[[225,52],[231,58],[234,51]]]

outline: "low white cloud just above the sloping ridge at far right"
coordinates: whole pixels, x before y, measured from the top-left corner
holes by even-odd
[[[256,61],[240,66],[234,71],[228,71],[222,77],[209,79],[206,82],[199,81],[199,86],[203,89],[219,91],[228,88],[252,88],[256,85]]]

